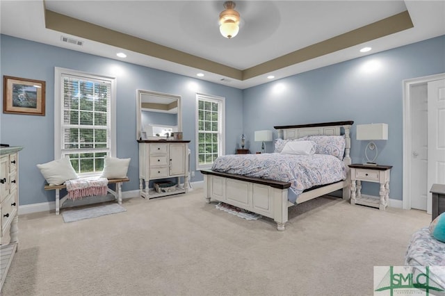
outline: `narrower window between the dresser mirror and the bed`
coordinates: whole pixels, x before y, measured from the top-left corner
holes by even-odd
[[[197,94],[196,110],[196,167],[199,170],[211,167],[215,159],[225,153],[225,98]]]

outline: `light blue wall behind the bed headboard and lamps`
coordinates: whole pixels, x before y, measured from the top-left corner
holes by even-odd
[[[254,131],[277,125],[387,123],[389,140],[376,143],[378,163],[394,166],[389,197],[402,199],[403,80],[444,72],[441,36],[249,88],[243,92],[247,147],[259,151],[260,144],[252,142]],[[355,126],[351,138],[353,163],[363,163],[367,141],[355,140]],[[267,149],[273,150],[272,142]],[[364,184],[364,192],[378,195],[378,188]]]

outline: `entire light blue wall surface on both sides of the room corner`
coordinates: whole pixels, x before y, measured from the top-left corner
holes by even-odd
[[[243,91],[7,35],[1,35],[0,42],[1,76],[47,83],[44,117],[3,114],[2,109],[0,113],[0,142],[24,146],[19,154],[20,205],[54,201],[54,192],[43,190],[44,179],[35,166],[54,159],[54,67],[117,77],[118,157],[131,158],[131,181],[124,184],[123,190],[138,189],[136,89],[145,89],[181,95],[184,139],[192,140],[191,170],[195,170],[196,92],[226,98],[227,154],[240,146],[242,133],[246,136],[246,148],[258,151],[259,143],[253,142],[254,131],[273,130],[274,125],[343,120],[354,120],[355,124],[385,122],[389,124],[389,140],[377,143],[378,162],[394,165],[390,185],[390,197],[394,199],[402,198],[403,80],[445,72],[445,36]],[[366,63],[373,61],[380,67],[366,71]],[[351,138],[353,162],[362,163],[366,141],[355,140],[355,126]],[[272,143],[268,143],[268,151],[272,149]],[[202,175],[197,172],[193,181],[200,180]],[[366,188],[365,184],[364,190],[376,194],[372,186]]]

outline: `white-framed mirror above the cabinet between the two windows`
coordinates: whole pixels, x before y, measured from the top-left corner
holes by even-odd
[[[177,131],[182,131],[181,97],[136,90],[136,140],[165,139]]]

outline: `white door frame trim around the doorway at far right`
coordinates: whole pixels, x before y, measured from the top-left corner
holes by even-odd
[[[412,155],[412,126],[411,126],[411,87],[416,84],[428,83],[445,79],[445,73],[434,74],[430,76],[417,77],[413,79],[403,80],[403,191],[402,191],[402,208],[411,209],[411,155]]]

